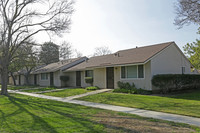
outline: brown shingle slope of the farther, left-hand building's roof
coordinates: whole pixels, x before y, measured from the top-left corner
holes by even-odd
[[[75,61],[80,60],[81,58],[85,58],[85,57],[68,59],[68,60],[63,60],[63,61],[59,61],[59,62],[56,62],[56,63],[51,63],[49,65],[42,67],[42,68],[36,69],[35,71],[32,72],[32,74],[55,72],[55,71],[58,71],[61,68],[65,67],[66,65],[69,65],[69,64],[71,64]]]

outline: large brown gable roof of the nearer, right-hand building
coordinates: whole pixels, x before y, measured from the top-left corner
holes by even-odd
[[[114,54],[91,57],[87,61],[69,68],[67,71],[84,70],[95,67],[108,67],[125,64],[145,63],[174,42],[120,50]]]

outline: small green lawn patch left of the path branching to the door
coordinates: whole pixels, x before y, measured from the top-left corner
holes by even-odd
[[[43,93],[43,95],[55,96],[55,97],[69,97],[69,96],[79,95],[79,94],[83,94],[87,92],[91,92],[91,91],[83,89],[83,88],[76,88],[76,89],[65,89],[58,92]]]

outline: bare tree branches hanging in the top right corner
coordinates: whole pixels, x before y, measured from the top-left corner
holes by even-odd
[[[191,23],[200,26],[200,0],[178,0],[175,8],[177,16],[174,24],[179,28]]]

